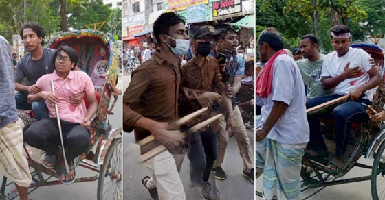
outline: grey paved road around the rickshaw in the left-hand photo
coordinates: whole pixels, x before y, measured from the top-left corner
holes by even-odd
[[[118,82],[118,87],[122,83],[121,80]],[[120,87],[119,87],[120,88]],[[111,102],[112,103],[112,102]],[[108,116],[113,128],[121,127],[122,125],[122,96],[118,97],[118,101],[113,109],[114,114]],[[93,171],[87,170],[83,167],[76,168],[77,177],[91,177],[97,175]],[[3,179],[3,176],[0,176]],[[54,178],[52,178],[54,179]],[[14,185],[6,187],[5,191],[13,189]],[[98,188],[98,180],[95,182],[76,183],[71,185],[58,185],[58,186],[45,186],[37,188],[30,194],[30,199],[96,199],[96,190]],[[18,199],[18,198],[17,198]]]

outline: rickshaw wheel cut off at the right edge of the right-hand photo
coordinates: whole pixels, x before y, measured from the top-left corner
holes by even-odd
[[[371,193],[374,200],[385,199],[385,142],[375,153],[371,175]]]

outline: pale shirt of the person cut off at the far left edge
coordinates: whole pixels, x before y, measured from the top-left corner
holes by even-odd
[[[17,121],[10,43],[0,36],[0,129]]]

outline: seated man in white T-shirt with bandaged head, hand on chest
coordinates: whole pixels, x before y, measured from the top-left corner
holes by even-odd
[[[336,124],[336,156],[327,164],[326,170],[331,174],[340,173],[344,164],[342,154],[346,151],[351,136],[351,123],[368,120],[366,108],[361,103],[371,104],[373,88],[382,83],[382,77],[377,68],[372,67],[368,53],[362,49],[349,47],[350,29],[346,25],[336,25],[331,28],[331,41],[336,51],[329,53],[322,65],[322,87],[327,90],[335,88],[334,95],[309,99],[307,108],[331,101],[344,95],[346,103],[338,105],[333,110]],[[310,126],[311,151],[307,155],[313,158],[327,157],[325,140],[320,131],[318,116],[308,114]]]

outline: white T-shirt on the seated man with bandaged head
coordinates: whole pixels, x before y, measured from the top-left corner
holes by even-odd
[[[349,68],[359,66],[361,69],[360,77],[344,79],[340,84],[336,86],[334,94],[336,95],[347,95],[351,90],[362,86],[366,82],[369,82],[368,71],[371,70],[372,66],[369,63],[370,55],[362,49],[353,49],[349,47],[349,51],[341,56],[337,56],[337,52],[333,51],[329,53],[322,66],[322,77],[337,77],[344,72],[344,68],[348,62],[350,62]],[[367,90],[365,92],[364,99],[373,100],[374,90]]]

